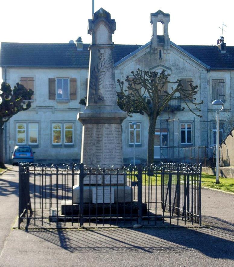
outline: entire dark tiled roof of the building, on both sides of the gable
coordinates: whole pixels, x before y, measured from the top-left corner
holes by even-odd
[[[39,44],[2,42],[0,66],[88,68],[88,47],[89,44],[83,44],[83,50],[77,50],[74,43]],[[130,54],[134,54],[134,51],[139,51],[138,48],[140,47],[141,45],[115,45],[113,53],[114,63],[127,59],[128,55],[131,56]],[[180,45],[176,47],[187,51],[188,56],[193,56],[198,61],[201,61],[201,63],[210,66],[211,69],[234,69],[234,46],[227,46],[226,53],[221,53],[220,49],[215,45]]]

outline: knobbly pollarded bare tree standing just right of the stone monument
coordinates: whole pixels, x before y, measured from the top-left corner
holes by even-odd
[[[203,103],[196,102],[195,96],[198,93],[198,85],[194,86],[190,83],[190,88],[183,88],[181,80],[171,82],[168,80],[169,74],[166,70],[162,72],[140,70],[131,71],[132,76],[127,76],[124,81],[117,82],[120,86],[120,91],[117,92],[119,107],[132,116],[132,113],[146,114],[149,118],[148,129],[148,152],[147,164],[152,164],[154,161],[154,134],[156,121],[158,116],[164,111],[172,111],[170,101],[173,99],[183,100],[185,107],[193,114],[201,117],[197,112],[201,109],[199,105]],[[169,86],[174,85],[174,86]],[[182,107],[181,110],[184,110]],[[192,110],[195,108],[195,111]]]

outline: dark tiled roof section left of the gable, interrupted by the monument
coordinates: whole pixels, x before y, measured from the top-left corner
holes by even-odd
[[[141,45],[115,45],[114,62]],[[1,67],[88,68],[89,44],[77,50],[73,44],[1,43]]]

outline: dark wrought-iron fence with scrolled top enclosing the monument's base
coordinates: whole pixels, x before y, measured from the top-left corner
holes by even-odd
[[[19,228],[201,224],[201,165],[19,165]]]

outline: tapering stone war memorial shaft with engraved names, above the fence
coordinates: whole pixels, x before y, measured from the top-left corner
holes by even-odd
[[[112,34],[115,20],[100,8],[89,19],[90,45],[87,105],[77,119],[83,124],[81,163],[122,167],[121,123],[127,117],[117,105]]]

